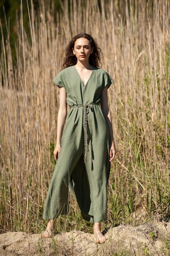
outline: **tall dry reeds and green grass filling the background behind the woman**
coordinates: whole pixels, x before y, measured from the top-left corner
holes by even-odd
[[[0,231],[43,229],[59,99],[52,80],[80,32],[97,40],[102,68],[115,80],[108,90],[117,156],[107,225],[169,221],[169,1],[14,2],[0,2]],[[71,195],[57,231],[91,228]]]

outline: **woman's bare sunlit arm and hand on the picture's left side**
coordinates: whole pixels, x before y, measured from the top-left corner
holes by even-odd
[[[56,141],[56,146],[53,152],[56,162],[57,162],[57,158],[60,155],[62,133],[63,133],[64,124],[65,124],[66,115],[67,115],[66,97],[67,97],[66,91],[64,87],[61,87],[60,88],[60,108],[59,108],[58,117],[57,117],[57,141]]]

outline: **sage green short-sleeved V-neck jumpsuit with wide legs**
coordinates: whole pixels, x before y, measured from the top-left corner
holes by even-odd
[[[62,70],[53,80],[64,87],[70,107],[53,172],[43,218],[55,219],[68,212],[69,189],[90,222],[107,220],[107,184],[110,173],[110,133],[100,106],[101,92],[113,79],[93,67],[84,86],[75,66]]]

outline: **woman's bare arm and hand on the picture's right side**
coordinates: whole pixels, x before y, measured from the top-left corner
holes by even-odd
[[[108,124],[109,132],[110,132],[110,159],[109,161],[112,161],[116,155],[116,148],[115,148],[115,142],[113,138],[113,128],[112,128],[112,119],[110,110],[108,108],[108,94],[107,89],[104,88],[101,92],[101,107],[102,111],[104,113],[104,117],[106,118],[106,122]]]

